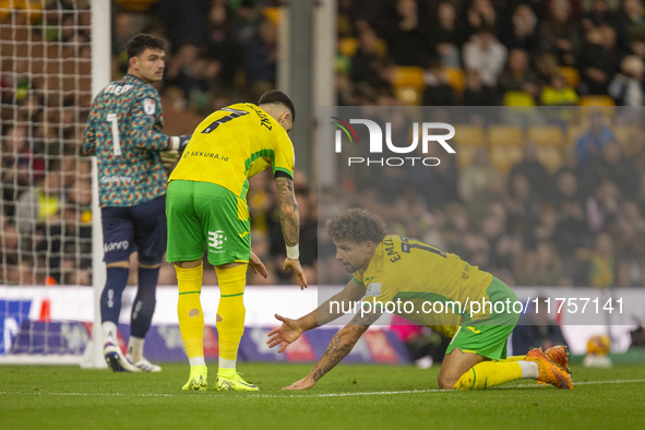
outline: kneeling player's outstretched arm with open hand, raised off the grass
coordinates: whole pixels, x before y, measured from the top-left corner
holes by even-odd
[[[278,353],[282,353],[287,346],[296,342],[302,332],[307,332],[308,330],[334,321],[343,315],[342,310],[351,309],[351,303],[360,300],[363,296],[365,287],[350,280],[341,292],[298,320],[291,320],[276,313],[275,318],[278,321],[282,321],[282,325],[268,332],[268,341],[266,341],[266,344],[270,348],[282,345],[278,350]],[[334,306],[332,306],[332,303],[334,303]],[[335,303],[338,304],[335,306]]]

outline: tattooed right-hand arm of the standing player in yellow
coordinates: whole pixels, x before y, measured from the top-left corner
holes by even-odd
[[[298,202],[296,202],[296,193],[294,192],[294,181],[285,176],[276,176],[275,188],[280,205],[280,226],[288,250],[298,246],[300,235],[300,214],[298,212]],[[289,255],[288,251],[283,268],[285,271],[290,270],[296,274],[300,289],[307,288],[307,276],[302,271],[300,261],[297,256]]]

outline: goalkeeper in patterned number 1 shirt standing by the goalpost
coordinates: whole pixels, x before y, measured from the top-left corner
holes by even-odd
[[[139,34],[128,43],[128,74],[94,99],[83,139],[83,154],[96,155],[107,280],[100,296],[104,356],[114,371],[158,372],[143,357],[143,343],[155,311],[159,267],[166,252],[166,180],[162,154],[170,159],[188,136],[162,133],[157,91],[164,76],[164,40]],[[139,251],[139,288],[132,304],[128,353],[118,345],[121,295],[130,254]]]

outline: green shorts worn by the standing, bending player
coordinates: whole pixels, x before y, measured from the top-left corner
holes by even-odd
[[[247,202],[222,186],[174,180],[166,194],[168,262],[201,260],[220,265],[248,262],[251,223]]]

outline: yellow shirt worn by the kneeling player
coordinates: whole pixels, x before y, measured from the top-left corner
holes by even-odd
[[[470,319],[469,302],[489,300],[492,275],[458,255],[401,236],[386,236],[367,270],[354,274],[366,287],[363,302],[396,313],[453,337]],[[407,304],[406,304],[407,303]],[[486,318],[482,310],[473,320]]]

